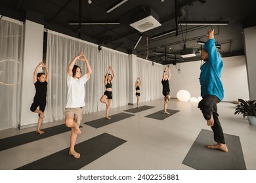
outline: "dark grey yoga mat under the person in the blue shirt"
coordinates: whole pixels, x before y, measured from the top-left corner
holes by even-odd
[[[224,138],[228,152],[207,148],[216,142],[213,131],[202,129],[182,163],[198,170],[246,170],[240,138],[228,134]]]

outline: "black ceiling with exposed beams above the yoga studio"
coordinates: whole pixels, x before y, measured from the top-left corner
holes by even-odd
[[[128,0],[116,9],[107,13],[106,8],[117,0],[81,0],[81,16],[79,16],[80,0],[1,0],[0,14],[16,20],[35,19],[30,12],[43,17],[40,22],[46,29],[58,31],[85,41],[114,48],[121,52],[137,54],[140,58],[170,64],[175,63],[175,56],[155,54],[167,52],[181,59],[180,53],[186,48],[196,52],[195,58],[200,59],[200,44],[197,41],[207,41],[207,31],[215,29],[215,40],[221,44],[218,49],[223,57],[244,54],[243,27],[255,24],[253,0]],[[175,4],[177,3],[177,4]],[[254,5],[253,5],[254,4]],[[177,5],[177,8],[175,8]],[[135,18],[144,14],[150,7],[159,16],[161,26],[140,32],[131,27]],[[117,21],[119,25],[69,25],[69,21],[77,20],[92,22],[98,20]],[[40,18],[39,18],[40,19]],[[176,21],[177,20],[177,21]],[[179,21],[228,21],[228,25],[177,25]],[[178,28],[176,33],[159,39],[151,40],[154,35]],[[136,49],[133,49],[138,38],[142,35]],[[182,61],[176,61],[179,63]]]

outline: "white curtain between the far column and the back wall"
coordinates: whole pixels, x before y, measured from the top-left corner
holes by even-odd
[[[140,102],[161,99],[163,78],[163,65],[152,61],[137,58],[137,77],[141,80],[140,85]],[[135,81],[134,81],[135,84]]]

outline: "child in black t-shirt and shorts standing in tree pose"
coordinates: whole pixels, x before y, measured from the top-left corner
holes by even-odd
[[[39,67],[44,67],[45,73],[37,73]],[[40,62],[37,67],[35,67],[35,71],[33,72],[33,84],[35,85],[35,97],[33,97],[33,103],[30,107],[32,112],[38,113],[38,122],[37,122],[37,133],[43,134],[41,131],[41,123],[45,115],[43,112],[45,111],[46,106],[46,96],[47,96],[47,84],[49,82],[49,71],[47,66]],[[39,107],[39,109],[37,109]]]

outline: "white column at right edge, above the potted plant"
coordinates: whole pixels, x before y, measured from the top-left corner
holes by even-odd
[[[247,78],[250,100],[256,100],[256,26],[244,29],[244,46],[246,56]]]

